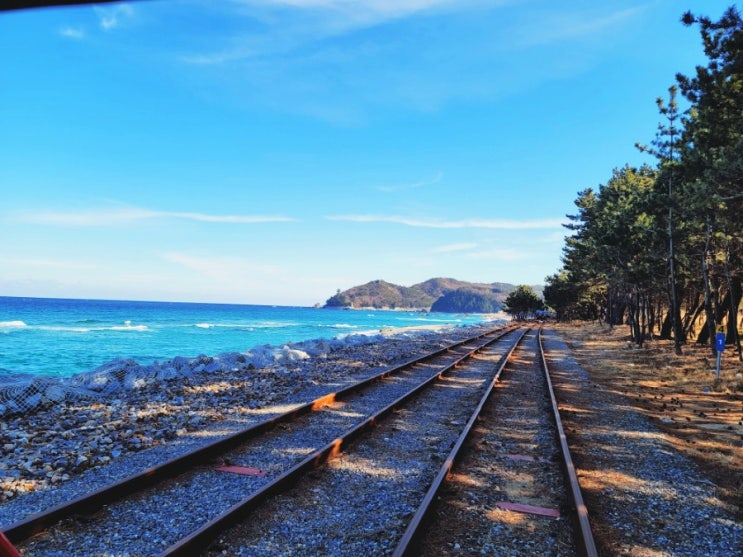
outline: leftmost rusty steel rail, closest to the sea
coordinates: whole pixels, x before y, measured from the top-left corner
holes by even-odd
[[[494,339],[489,341],[494,342],[495,340],[498,340],[499,338],[506,335],[512,329],[513,327],[492,329],[473,337],[457,341],[434,352],[430,352],[428,354],[406,360],[400,364],[387,367],[381,372],[362,381],[354,383],[353,385],[349,385],[348,387],[340,389],[339,391],[318,397],[310,402],[298,406],[293,410],[289,410],[272,418],[263,420],[250,427],[230,434],[227,437],[218,439],[198,449],[172,458],[162,464],[150,467],[142,472],[138,472],[132,476],[123,478],[109,486],[103,487],[89,494],[82,495],[76,499],[73,499],[72,501],[61,503],[50,509],[32,514],[24,518],[23,520],[9,525],[8,527],[0,528],[0,532],[4,533],[4,535],[11,543],[20,543],[23,540],[26,540],[31,536],[44,531],[45,529],[65,518],[80,514],[92,514],[106,504],[112,503],[127,495],[131,495],[136,491],[141,491],[169,478],[175,477],[183,472],[186,472],[201,463],[213,459],[215,456],[223,454],[237,447],[241,443],[244,443],[254,437],[257,437],[258,435],[271,430],[280,423],[289,422],[305,414],[317,411],[323,406],[330,404],[335,400],[342,400],[344,397],[360,391],[376,381],[381,381],[382,379],[389,377],[395,373],[400,373],[405,369],[409,369],[417,364],[441,356],[465,344],[477,342],[485,339],[488,336],[500,333]],[[460,360],[457,360],[457,362],[458,361]]]

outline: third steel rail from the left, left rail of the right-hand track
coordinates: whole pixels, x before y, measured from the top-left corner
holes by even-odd
[[[519,336],[508,353],[506,353],[501,358],[500,364],[498,365],[493,378],[490,380],[489,387],[486,389],[485,393],[480,399],[479,404],[472,412],[472,416],[470,416],[470,419],[467,421],[467,425],[462,430],[462,433],[459,435],[456,443],[454,443],[449,456],[446,458],[443,465],[439,469],[438,474],[436,474],[433,483],[426,492],[426,495],[423,497],[423,501],[418,506],[418,510],[415,512],[413,518],[408,523],[408,527],[405,530],[405,533],[403,534],[402,538],[400,538],[395,551],[392,553],[393,557],[408,556],[415,552],[415,548],[418,546],[417,542],[420,540],[420,537],[423,534],[424,526],[430,517],[430,513],[433,511],[434,501],[436,500],[441,487],[443,486],[446,479],[449,477],[454,464],[459,460],[459,457],[462,454],[462,447],[464,446],[464,443],[467,441],[467,439],[470,437],[475,423],[480,417],[480,414],[482,414],[482,410],[485,407],[485,404],[488,402],[488,399],[492,395],[493,389],[495,387],[495,384],[498,382],[498,379],[500,378],[501,372],[508,364],[508,361],[510,360],[514,350],[516,350],[516,347],[521,344],[521,341],[529,330],[529,328],[523,329],[523,331],[521,332],[521,336]]]

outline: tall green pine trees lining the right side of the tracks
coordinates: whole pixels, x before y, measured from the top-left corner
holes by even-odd
[[[677,74],[658,98],[653,164],[615,168],[578,193],[563,266],[545,301],[562,320],[627,323],[631,340],[740,348],[743,280],[743,20],[690,12],[704,66]],[[680,106],[684,108],[681,109]]]

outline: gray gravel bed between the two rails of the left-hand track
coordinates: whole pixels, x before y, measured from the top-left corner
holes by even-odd
[[[439,337],[434,346],[431,345],[430,339],[423,344],[426,350],[430,350],[451,342],[450,338]],[[386,348],[389,350],[390,346]],[[419,344],[418,349],[420,348]],[[400,352],[396,353],[398,359],[410,359],[408,354],[405,354],[405,358],[400,358],[401,355]],[[104,512],[98,513],[92,521],[75,522],[70,528],[63,523],[60,528],[23,544],[21,546],[23,554],[50,555],[56,554],[55,552],[67,555],[118,555],[128,552],[142,555],[157,554],[164,547],[198,527],[204,520],[214,517],[246,493],[265,484],[269,478],[284,471],[311,450],[327,444],[347,429],[349,424],[362,419],[369,407],[378,409],[388,404],[400,396],[403,389],[407,390],[412,382],[431,373],[430,366],[416,366],[415,370],[403,374],[400,378],[384,380],[383,385],[375,389],[374,396],[358,397],[355,403],[346,402],[341,404],[340,408],[313,414],[311,419],[305,420],[312,423],[312,427],[297,425],[289,434],[281,435],[280,438],[271,437],[269,441],[257,441],[252,448],[248,447],[241,453],[229,455],[225,459],[229,463],[244,463],[262,468],[268,472],[266,477],[233,476],[204,470],[185,483],[166,483],[156,492],[113,504]],[[368,375],[368,372],[366,374]],[[306,400],[306,395],[310,392],[316,394],[313,387],[310,385],[301,398]],[[326,385],[325,392],[328,391],[327,387]],[[336,383],[333,387],[332,390],[336,390],[339,384]],[[286,402],[291,398],[287,397]],[[264,412],[259,414],[265,417]],[[223,426],[224,424],[220,424],[220,427]],[[181,446],[179,452],[180,450],[185,450],[185,447]],[[162,446],[149,452],[167,451],[166,446]],[[173,453],[169,452],[168,456],[172,457]],[[129,470],[131,471],[131,468]],[[87,475],[92,475],[92,472]],[[71,482],[70,485],[73,483],[75,482]],[[144,524],[157,524],[157,528],[152,530],[143,528]],[[102,532],[105,532],[105,535],[101,535]]]

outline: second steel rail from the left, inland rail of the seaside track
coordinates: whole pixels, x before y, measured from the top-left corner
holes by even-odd
[[[439,370],[438,373],[426,379],[424,382],[418,384],[413,389],[408,391],[406,394],[399,397],[397,400],[391,402],[389,405],[384,407],[377,413],[369,416],[360,424],[356,425],[353,429],[349,430],[345,435],[338,437],[327,444],[325,447],[315,451],[309,456],[305,457],[300,463],[294,465],[292,468],[275,478],[270,483],[266,484],[260,490],[252,493],[245,497],[242,501],[236,503],[228,510],[210,520],[204,526],[192,532],[186,538],[183,538],[176,544],[173,544],[165,551],[163,551],[161,557],[180,557],[190,556],[198,554],[203,551],[216,537],[224,530],[236,525],[238,522],[244,519],[252,510],[267,499],[279,495],[283,491],[296,485],[299,480],[309,471],[321,466],[328,460],[331,460],[344,450],[344,447],[352,443],[359,436],[365,433],[367,430],[374,427],[377,422],[392,413],[395,409],[407,402],[422,390],[432,385],[434,382],[440,380],[444,374],[457,367],[462,361],[471,358],[474,354],[481,351],[490,344],[504,337],[509,332],[513,331],[514,327],[506,329],[503,334],[498,335],[495,338],[488,339],[483,344],[475,347],[468,351],[466,354],[458,357],[455,361],[447,364],[444,368]],[[522,334],[523,336],[523,334]],[[519,340],[521,337],[519,337]],[[518,342],[517,342],[518,343]],[[512,351],[513,349],[511,349]],[[509,352],[510,354],[510,352]]]

